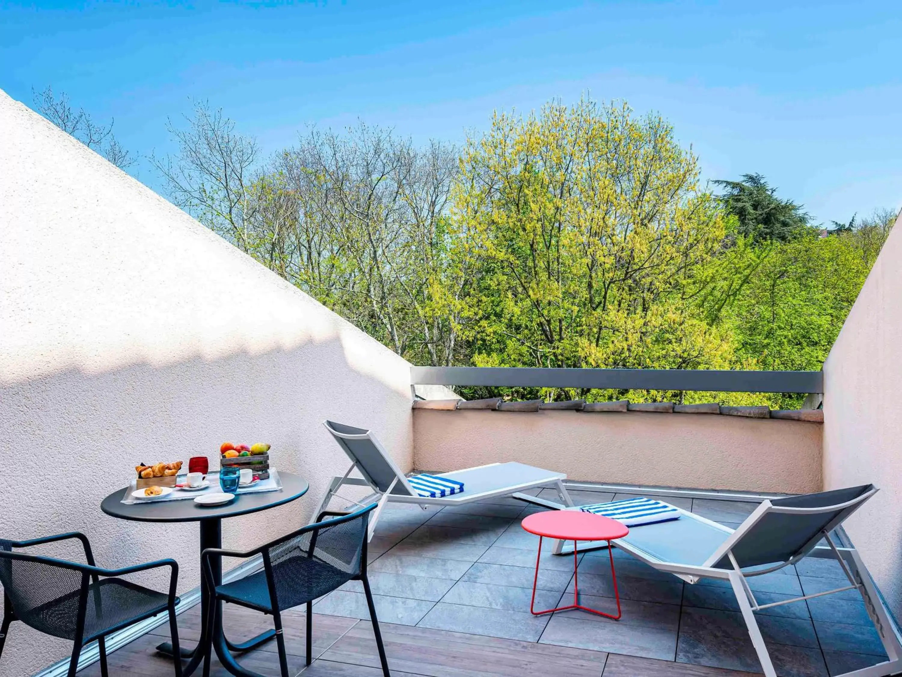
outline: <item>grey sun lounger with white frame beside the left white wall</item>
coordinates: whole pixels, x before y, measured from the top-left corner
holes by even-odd
[[[534,468],[523,463],[492,463],[478,468],[441,473],[435,477],[463,482],[464,490],[451,496],[422,496],[411,486],[408,478],[395,465],[391,455],[382,448],[382,444],[372,431],[332,421],[325,421],[323,425],[335,438],[338,446],[345,451],[348,459],[351,460],[351,467],[347,469],[344,476],[332,478],[317,514],[326,510],[327,505],[334,497],[342,498],[354,505],[365,505],[377,501],[379,505],[370,518],[371,538],[382,507],[387,502],[414,503],[425,507],[427,505],[465,505],[486,498],[513,496],[521,501],[545,507],[562,508],[573,505],[573,501],[564,487],[563,480],[566,479],[564,473]],[[351,477],[354,469],[360,473],[361,477]],[[339,489],[347,486],[369,487],[372,493],[357,500],[339,496]],[[561,503],[522,493],[538,487],[557,489]]]

